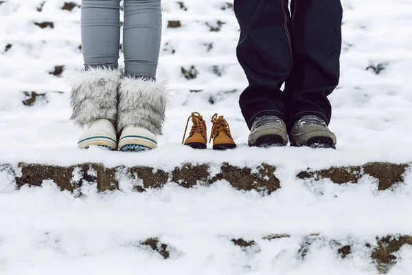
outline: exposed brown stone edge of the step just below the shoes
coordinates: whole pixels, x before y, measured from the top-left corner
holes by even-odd
[[[390,190],[396,184],[404,183],[404,175],[410,164],[370,162],[362,166],[331,167],[324,170],[298,171],[295,179],[310,183],[329,179],[334,184],[358,184],[363,177],[373,177],[378,181],[378,190]],[[216,172],[218,171],[218,172]],[[182,164],[173,170],[148,166],[104,167],[98,163],[84,163],[73,166],[20,163],[18,166],[3,164],[0,172],[14,177],[16,186],[41,186],[43,181],[52,180],[61,190],[80,188],[84,182],[96,183],[98,191],[119,189],[120,180],[135,182],[135,190],[143,192],[148,188],[162,188],[165,184],[178,184],[192,188],[198,184],[209,186],[225,180],[237,190],[257,190],[270,195],[281,188],[277,177],[277,167],[262,163],[259,166],[243,167],[222,164]]]

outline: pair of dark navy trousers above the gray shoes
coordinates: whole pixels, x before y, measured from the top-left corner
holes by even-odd
[[[293,124],[304,115],[330,122],[327,98],[339,83],[340,0],[234,0],[238,61],[249,80],[240,108],[249,129],[261,115]],[[285,83],[284,91],[281,91]]]

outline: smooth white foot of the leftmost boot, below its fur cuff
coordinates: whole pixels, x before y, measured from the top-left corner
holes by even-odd
[[[116,130],[110,120],[96,120],[89,126],[89,129],[80,135],[79,148],[89,148],[91,145],[102,146],[111,150],[117,149]]]

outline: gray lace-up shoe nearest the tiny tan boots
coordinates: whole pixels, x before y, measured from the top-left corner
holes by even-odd
[[[253,122],[248,139],[249,146],[271,147],[288,144],[285,122],[275,115],[263,115]]]

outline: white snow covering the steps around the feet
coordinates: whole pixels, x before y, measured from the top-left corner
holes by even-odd
[[[295,178],[309,166],[412,162],[412,1],[342,0],[341,84],[330,96],[330,129],[338,137],[333,151],[248,148],[249,132],[238,107],[247,81],[236,61],[238,23],[232,10],[222,10],[222,0],[185,0],[187,11],[177,1],[163,0],[158,77],[170,83],[172,100],[159,148],[139,154],[76,148],[82,130],[68,120],[68,79],[82,65],[80,9],[61,10],[64,0],[47,0],[38,12],[42,3],[0,4],[0,164],[102,162],[172,170],[185,162],[209,162],[216,164],[210,170],[216,174],[222,162],[251,167],[267,162],[278,167],[282,188],[262,197],[222,181],[136,193],[133,184],[139,180],[125,175],[119,191],[98,194],[91,183],[79,197],[50,181],[41,188],[14,190],[5,168],[0,170],[0,274],[376,274],[365,242],[412,234],[411,171],[403,185],[385,191],[377,191],[370,177],[339,186],[328,179],[304,184]],[[168,21],[176,20],[181,28],[167,28]],[[43,21],[52,21],[54,28],[34,25]],[[220,32],[209,32],[208,25],[217,21],[225,22]],[[12,47],[5,51],[8,44]],[[65,66],[62,76],[49,74],[56,65]],[[187,80],[181,67],[192,65],[198,77]],[[376,74],[378,67],[384,69]],[[47,93],[48,103],[24,106],[23,91]],[[182,146],[192,111],[201,112],[208,129],[214,113],[225,115],[238,148],[214,152],[210,146],[205,151]],[[312,233],[325,239],[300,259],[300,243]],[[262,239],[268,234],[291,237]],[[139,245],[149,237],[174,248],[171,259]],[[233,238],[256,245],[242,250],[231,243]],[[351,242],[356,253],[340,259],[332,239]],[[412,274],[412,248],[405,246],[397,255],[402,260],[389,274]]]

